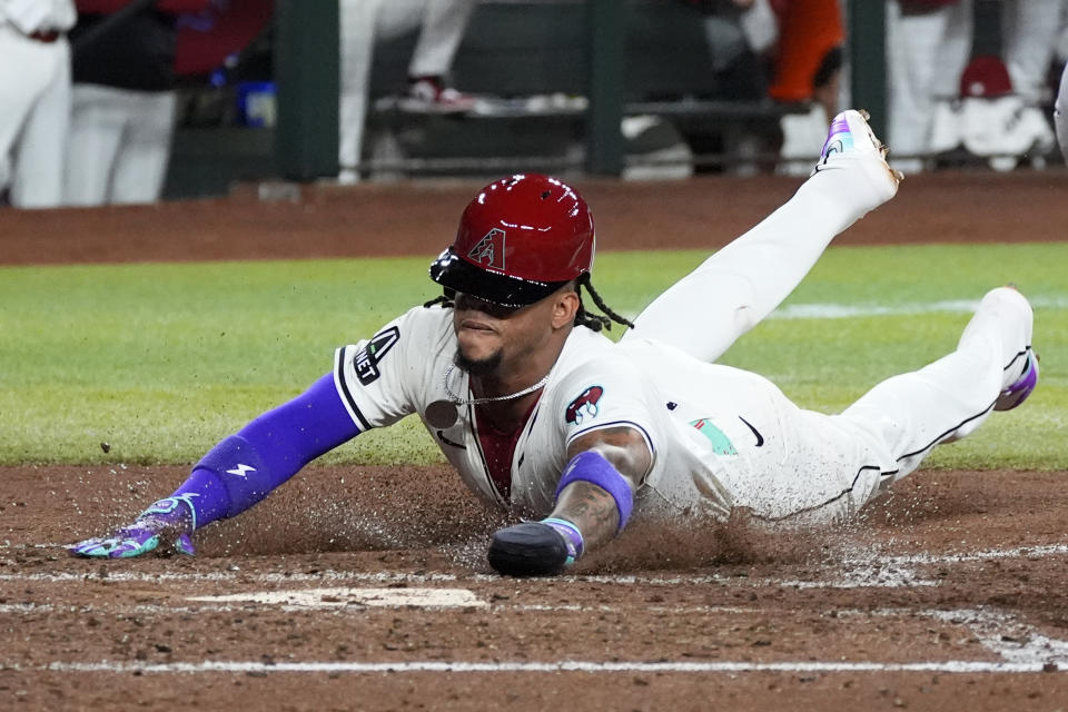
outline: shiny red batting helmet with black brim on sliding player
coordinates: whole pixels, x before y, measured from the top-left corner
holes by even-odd
[[[431,279],[485,301],[521,307],[593,267],[593,217],[571,186],[540,174],[483,188],[459,219]]]

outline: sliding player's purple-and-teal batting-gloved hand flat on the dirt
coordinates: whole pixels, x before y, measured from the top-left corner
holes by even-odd
[[[75,556],[129,558],[149,552],[192,555],[194,522],[188,503],[167,497],[152,503],[137,520],[108,536],[87,538],[67,547]]]

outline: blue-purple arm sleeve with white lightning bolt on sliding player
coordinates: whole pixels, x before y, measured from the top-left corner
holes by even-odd
[[[359,435],[326,374],[289,403],[264,413],[205,455],[175,492],[188,495],[202,526],[235,516],[319,455]]]

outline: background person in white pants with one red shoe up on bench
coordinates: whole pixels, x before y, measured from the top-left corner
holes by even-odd
[[[419,28],[408,63],[408,87],[397,106],[405,111],[462,113],[474,98],[448,86],[446,78],[477,0],[340,0],[339,180],[359,180],[375,42]]]

